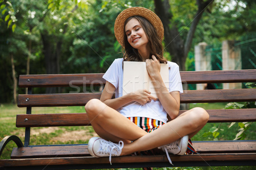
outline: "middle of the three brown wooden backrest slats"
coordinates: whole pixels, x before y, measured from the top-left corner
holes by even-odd
[[[20,94],[18,107],[81,106],[101,93]],[[256,88],[226,90],[193,90],[180,94],[181,103],[246,102],[256,101]]]

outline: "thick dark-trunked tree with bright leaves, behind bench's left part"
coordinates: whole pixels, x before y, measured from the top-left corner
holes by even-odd
[[[73,0],[55,1],[49,0],[44,3],[41,13],[43,14],[38,22],[41,42],[43,45],[43,54],[46,74],[60,74],[60,60],[64,56],[64,49],[70,46],[65,40],[67,37],[74,37],[70,34],[70,23],[75,16],[74,12],[78,8]],[[71,20],[71,21],[70,21]],[[67,46],[66,46],[67,45]],[[56,88],[47,88],[46,93],[56,93]]]

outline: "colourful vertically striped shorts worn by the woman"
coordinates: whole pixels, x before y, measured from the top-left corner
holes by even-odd
[[[142,128],[143,130],[145,130],[148,133],[150,133],[150,132],[156,130],[158,127],[161,127],[162,125],[164,125],[164,122],[162,122],[162,121],[147,118],[147,117],[128,117],[128,119],[131,120],[131,122],[134,122],[135,125],[139,126],[140,128]],[[150,155],[152,153],[149,150],[146,152],[147,152],[146,154],[150,154]],[[145,155],[144,152],[142,152],[142,153],[143,153],[143,155]],[[142,153],[140,153],[140,154],[142,154]],[[191,139],[189,139],[186,154],[193,154],[193,153],[197,153],[197,152],[195,151],[195,148],[193,147]]]

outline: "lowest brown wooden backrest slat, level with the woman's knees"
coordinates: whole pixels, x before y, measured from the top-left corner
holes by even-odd
[[[185,111],[180,111],[179,114]],[[208,122],[254,122],[254,109],[221,109],[207,110]],[[88,126],[90,121],[86,113],[55,113],[55,114],[18,114],[16,127],[52,127],[52,126]]]

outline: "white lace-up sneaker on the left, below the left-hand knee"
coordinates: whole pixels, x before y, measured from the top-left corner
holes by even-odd
[[[88,142],[88,151],[91,156],[104,157],[109,156],[111,164],[111,156],[120,156],[124,142],[120,141],[119,144],[115,144],[110,141],[99,137],[93,137]]]

